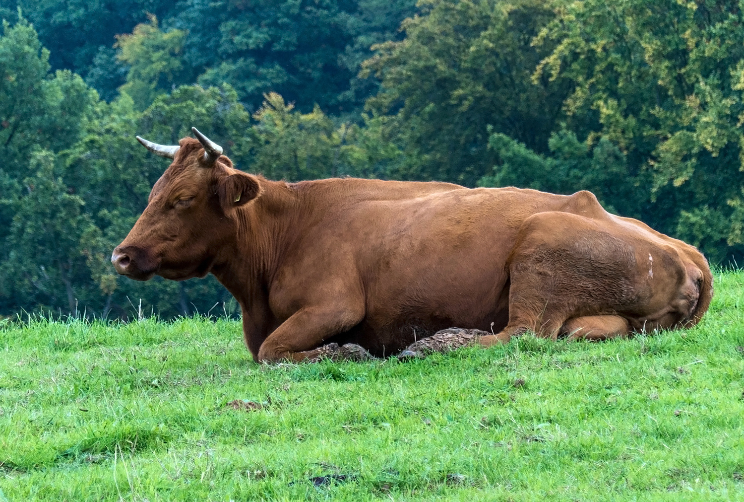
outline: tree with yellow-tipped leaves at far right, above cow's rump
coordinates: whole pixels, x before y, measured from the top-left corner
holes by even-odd
[[[534,43],[555,49],[534,77],[571,82],[564,103],[571,129],[592,143],[605,138],[617,144],[639,182],[641,171],[650,171],[650,185],[639,183],[652,207],[644,212],[648,223],[702,245],[715,259],[740,254],[740,2],[588,0],[554,6],[556,18]]]

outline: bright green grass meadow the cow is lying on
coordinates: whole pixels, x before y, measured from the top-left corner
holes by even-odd
[[[744,500],[743,296],[717,273],[690,331],[403,363],[260,365],[230,320],[6,324],[0,501]]]

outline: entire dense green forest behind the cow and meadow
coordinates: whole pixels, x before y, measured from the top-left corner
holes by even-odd
[[[272,179],[594,191],[744,255],[744,1],[0,0],[0,314],[234,313],[109,256],[199,127]]]

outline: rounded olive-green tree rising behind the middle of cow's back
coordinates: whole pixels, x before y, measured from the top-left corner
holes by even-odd
[[[533,36],[553,17],[531,0],[427,1],[406,37],[377,45],[365,72],[382,80],[368,109],[404,155],[391,176],[475,185],[493,165],[486,127],[544,149],[560,117],[561,83],[531,79],[549,48]]]

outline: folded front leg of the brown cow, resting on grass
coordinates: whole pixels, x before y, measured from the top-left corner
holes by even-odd
[[[324,348],[321,344],[359,324],[364,315],[362,307],[301,308],[263,341],[258,351],[258,360],[299,362],[333,357],[330,352],[335,353],[336,347]]]

